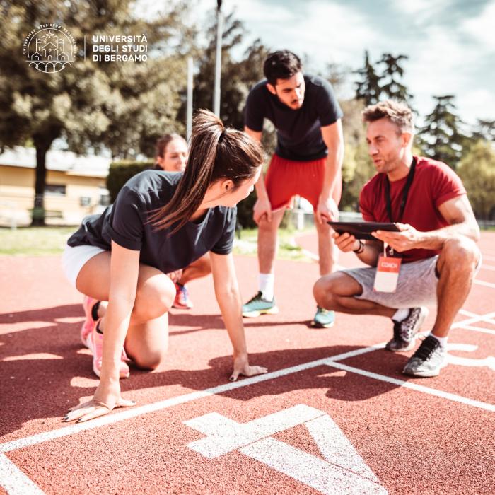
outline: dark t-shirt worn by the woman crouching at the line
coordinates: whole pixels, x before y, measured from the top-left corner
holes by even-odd
[[[148,214],[173,197],[180,177],[182,172],[163,170],[134,175],[120,190],[115,204],[101,215],[86,216],[67,244],[110,250],[114,240],[124,248],[141,251],[139,261],[163,273],[185,268],[209,251],[227,255],[232,251],[236,208],[210,208],[200,221],[187,222],[173,235],[169,234],[176,224],[158,231],[148,223]]]

